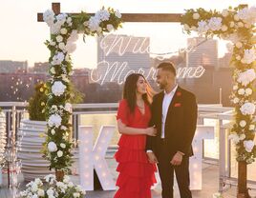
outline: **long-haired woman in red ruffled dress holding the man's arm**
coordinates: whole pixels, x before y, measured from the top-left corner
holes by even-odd
[[[123,99],[117,110],[117,128],[121,133],[115,155],[119,172],[114,198],[151,198],[151,186],[156,183],[156,166],[150,164],[145,152],[146,135],[155,136],[148,128],[151,118],[148,84],[139,73],[126,78]]]

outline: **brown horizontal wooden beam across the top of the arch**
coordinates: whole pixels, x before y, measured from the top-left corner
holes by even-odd
[[[121,13],[121,15],[123,22],[181,22],[181,13]],[[43,22],[43,13],[37,13],[37,21]]]

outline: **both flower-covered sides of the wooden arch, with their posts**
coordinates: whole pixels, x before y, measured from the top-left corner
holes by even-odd
[[[256,8],[245,5],[237,8],[217,10],[186,10],[181,17],[185,33],[196,31],[206,38],[218,36],[230,40],[233,44],[231,64],[234,67],[234,86],[231,101],[235,106],[234,125],[230,139],[236,145],[239,162],[239,194],[249,197],[246,188],[246,165],[254,162],[256,157],[255,109],[253,99],[256,79]],[[51,40],[46,41],[51,50],[49,58],[51,79],[48,82],[50,92],[47,102],[48,131],[44,156],[51,162],[50,168],[56,170],[57,180],[62,181],[64,171],[72,164],[71,152],[73,142],[69,138],[71,132],[70,116],[72,105],[70,100],[70,75],[72,60],[70,53],[75,50],[78,33],[102,35],[121,28],[121,14],[117,10],[99,10],[91,16],[86,12],[80,14],[55,14],[47,10],[43,14],[44,21],[51,30]],[[176,22],[177,22],[176,21]]]

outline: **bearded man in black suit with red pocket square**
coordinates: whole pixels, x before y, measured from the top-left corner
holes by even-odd
[[[191,198],[189,157],[197,126],[196,97],[178,86],[172,63],[158,66],[157,83],[162,91],[153,98],[150,126],[155,125],[158,134],[147,137],[147,155],[151,163],[158,163],[162,198],[173,198],[174,171],[181,198]]]

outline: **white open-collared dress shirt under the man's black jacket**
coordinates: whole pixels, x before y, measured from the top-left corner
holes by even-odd
[[[165,120],[166,120],[166,116],[167,116],[167,112],[169,109],[169,106],[173,100],[173,96],[176,92],[178,88],[178,85],[176,85],[174,87],[174,89],[172,89],[171,92],[166,93],[166,91],[164,90],[164,97],[162,100],[162,113],[161,113],[161,134],[160,134],[160,138],[164,138],[164,128],[165,128]]]

